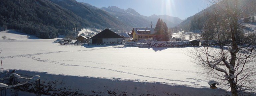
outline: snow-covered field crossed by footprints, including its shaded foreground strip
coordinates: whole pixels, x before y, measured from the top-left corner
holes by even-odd
[[[186,50],[193,50],[190,47],[61,46],[52,43],[57,38],[39,39],[15,31],[0,32],[1,37],[4,35],[10,40],[0,40],[3,68],[43,75],[42,80],[62,79],[66,83],[62,87],[75,90],[74,85],[80,85],[77,88],[84,89],[84,94],[91,90],[106,93],[116,90],[129,95],[226,94],[223,89],[209,88],[208,80],[198,73],[200,69],[186,55]],[[131,89],[135,87],[140,90]]]

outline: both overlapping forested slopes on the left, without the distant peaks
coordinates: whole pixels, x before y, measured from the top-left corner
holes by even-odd
[[[74,0],[1,0],[0,26],[15,29],[39,38],[73,35],[81,28],[128,27],[101,9],[92,9]],[[82,13],[83,12],[83,13]]]

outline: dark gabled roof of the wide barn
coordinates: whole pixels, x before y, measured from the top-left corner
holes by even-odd
[[[98,34],[92,36],[90,39],[96,39],[96,38],[124,38],[124,37],[106,28],[105,30],[99,32]]]

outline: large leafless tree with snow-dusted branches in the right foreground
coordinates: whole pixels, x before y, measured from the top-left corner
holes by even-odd
[[[256,91],[256,35],[241,27],[242,24],[238,22],[246,10],[238,8],[240,2],[242,1],[215,1],[219,14],[207,18],[211,22],[205,21],[202,31],[212,31],[211,34],[216,34],[214,38],[218,43],[211,46],[208,43],[209,37],[202,37],[206,41],[205,46],[190,52],[194,63],[220,84],[228,86],[232,96],[238,96],[239,90]]]

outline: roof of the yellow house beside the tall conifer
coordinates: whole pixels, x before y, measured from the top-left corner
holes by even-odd
[[[144,27],[144,28],[133,28],[132,29],[132,34],[133,33],[136,33],[138,35],[141,35],[141,34],[145,34],[145,35],[153,35],[155,33],[155,28],[147,28],[147,27]],[[139,32],[139,33],[138,33]],[[141,32],[149,32],[149,33],[141,33]]]

